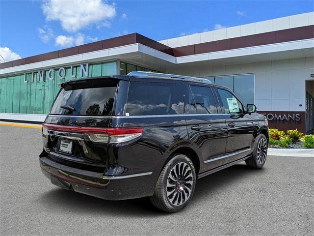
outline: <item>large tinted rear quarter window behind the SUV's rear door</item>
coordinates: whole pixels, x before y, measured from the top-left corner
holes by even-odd
[[[183,114],[183,86],[131,82],[126,114],[129,116]]]

